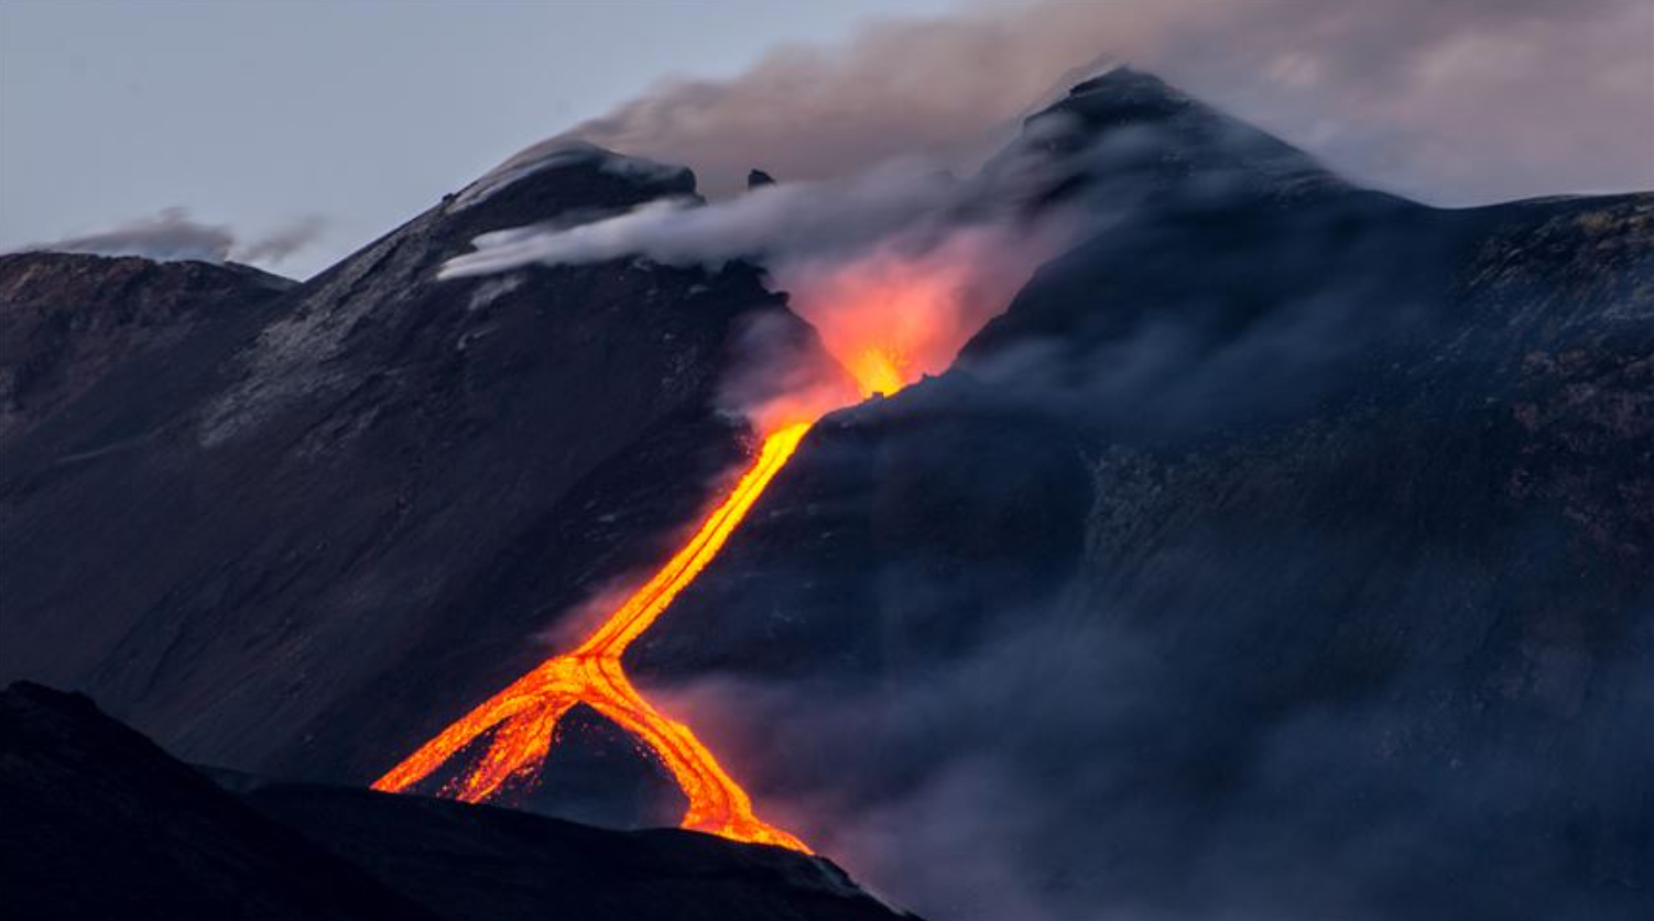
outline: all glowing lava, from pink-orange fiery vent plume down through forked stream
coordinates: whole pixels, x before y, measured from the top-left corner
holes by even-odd
[[[842,367],[832,374],[849,374],[863,398],[892,395],[944,367],[986,321],[984,303],[1004,303],[1007,288],[981,284],[981,268],[992,263],[978,251],[984,243],[991,240],[959,236],[923,253],[875,248],[847,261],[782,266],[776,276],[794,291],[794,306]],[[685,828],[810,853],[796,835],[758,818],[751,797],[711,751],[685,723],[650,704],[620,666],[627,647],[718,556],[814,420],[844,402],[822,397],[844,394],[830,384],[805,390],[805,398],[779,397],[749,413],[767,428],[758,458],[688,542],[586,642],[478,704],[375,780],[374,789],[407,790],[488,736],[486,752],[438,790],[466,802],[486,800],[514,779],[531,779],[551,751],[557,723],[584,703],[665,764],[690,804]]]

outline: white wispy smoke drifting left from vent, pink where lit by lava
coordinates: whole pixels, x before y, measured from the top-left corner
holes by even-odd
[[[564,152],[552,147],[544,157],[556,165]],[[807,362],[805,351],[787,347],[781,364],[792,367],[777,367],[777,349],[764,341],[772,331],[749,331],[744,354],[762,372],[738,372],[726,397],[729,408],[772,430],[852,403],[857,389],[862,397],[888,394],[946,369],[1064,236],[1060,215],[1027,208],[1050,169],[1012,149],[971,180],[900,159],[711,205],[663,198],[576,227],[486,233],[442,276],[629,256],[710,270],[759,261],[839,365]]]

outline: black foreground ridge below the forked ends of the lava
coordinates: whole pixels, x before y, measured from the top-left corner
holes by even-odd
[[[875,921],[835,866],[420,797],[237,797],[78,694],[0,693],[7,918]]]

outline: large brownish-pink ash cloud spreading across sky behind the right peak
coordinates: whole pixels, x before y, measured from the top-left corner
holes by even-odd
[[[1644,0],[1047,0],[777,48],[569,134],[688,162],[713,195],[753,165],[820,179],[923,152],[961,169],[1107,53],[1431,202],[1647,188],[1651,33]]]

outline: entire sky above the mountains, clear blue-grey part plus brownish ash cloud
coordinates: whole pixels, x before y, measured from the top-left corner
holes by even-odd
[[[1098,53],[1432,203],[1654,187],[1654,0],[0,0],[0,251],[119,227],[303,278],[582,122],[708,185],[829,175]]]

